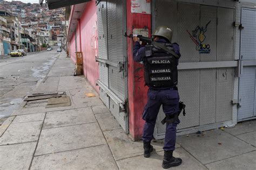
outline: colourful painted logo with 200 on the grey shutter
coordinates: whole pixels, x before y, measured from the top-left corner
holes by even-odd
[[[206,24],[205,27],[197,26],[196,29],[192,31],[192,34],[187,31],[187,33],[190,35],[191,40],[194,42],[194,44],[196,44],[196,49],[197,51],[199,51],[199,54],[210,54],[211,52],[210,44],[204,44],[204,41],[206,39],[205,33],[210,23],[211,20]]]

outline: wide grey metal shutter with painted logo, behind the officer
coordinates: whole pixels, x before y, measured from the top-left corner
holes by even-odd
[[[200,62],[218,65],[214,62],[233,61],[234,9],[171,0],[155,2],[156,27],[170,26],[174,35],[173,42],[180,45],[179,65],[199,65]],[[205,37],[205,41],[201,42],[210,45],[210,53],[200,52],[196,45],[198,40],[193,34],[199,30],[201,36]],[[225,65],[223,67],[201,69],[195,66],[190,69],[184,66],[179,69],[180,100],[186,104],[187,112],[185,117],[180,116],[180,131],[231,121],[234,69]],[[165,125],[160,123],[164,117],[160,109],[154,133],[157,139],[164,138]]]

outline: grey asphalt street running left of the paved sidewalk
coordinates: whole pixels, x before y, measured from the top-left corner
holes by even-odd
[[[23,57],[0,59],[0,119],[10,116],[23,98],[44,79],[59,53],[28,53]],[[1,120],[0,120],[1,124]]]

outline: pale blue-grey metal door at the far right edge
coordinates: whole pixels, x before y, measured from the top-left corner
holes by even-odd
[[[256,116],[256,10],[243,8],[241,12],[241,75],[239,79],[238,121]]]

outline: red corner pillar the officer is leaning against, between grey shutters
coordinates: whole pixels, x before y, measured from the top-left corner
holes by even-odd
[[[132,29],[143,29],[145,27],[151,30],[151,15],[131,13],[131,1],[126,1],[127,33],[132,33]],[[139,140],[142,137],[144,125],[142,112],[146,104],[148,88],[144,86],[143,65],[133,61],[132,51],[133,41],[129,38],[127,39],[129,131],[135,140]]]

